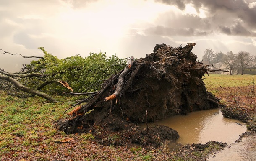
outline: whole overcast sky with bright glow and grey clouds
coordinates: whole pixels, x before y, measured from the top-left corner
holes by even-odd
[[[141,58],[157,43],[190,42],[200,60],[208,48],[256,54],[256,0],[0,0],[0,49],[10,53]],[[0,68],[31,60],[0,54]]]

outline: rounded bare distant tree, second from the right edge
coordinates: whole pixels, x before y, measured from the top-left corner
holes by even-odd
[[[232,51],[227,51],[227,54],[223,56],[222,62],[223,65],[226,66],[226,69],[230,71],[230,74],[232,74],[233,69],[237,64],[237,58],[235,54]]]

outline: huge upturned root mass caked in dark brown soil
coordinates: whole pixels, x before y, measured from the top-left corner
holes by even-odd
[[[145,146],[159,146],[166,139],[177,139],[177,131],[171,128],[152,127],[147,133],[136,124],[221,106],[219,100],[206,91],[202,76],[207,73],[207,66],[196,61],[197,56],[191,52],[194,45],[174,48],[157,44],[153,53],[134,61],[104,82],[94,99],[74,112],[73,118],[62,120],[59,129],[84,133],[101,127]],[[118,97],[106,101],[119,81],[122,81],[122,90]],[[90,110],[93,111],[87,114]]]

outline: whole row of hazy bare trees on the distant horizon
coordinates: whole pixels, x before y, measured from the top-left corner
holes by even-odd
[[[246,51],[239,51],[237,54],[234,54],[232,51],[227,51],[226,54],[216,51],[214,54],[212,49],[206,49],[203,55],[203,63],[213,65],[220,63],[222,69],[229,70],[230,74],[236,69],[243,75],[246,68],[256,68],[256,55]]]

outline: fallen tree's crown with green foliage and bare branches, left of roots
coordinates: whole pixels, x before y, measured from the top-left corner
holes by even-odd
[[[43,47],[39,47],[39,49],[43,51],[44,56],[23,56],[0,49],[0,54],[38,59],[31,61],[30,64],[24,64],[23,68],[16,73],[0,69],[0,90],[7,91],[9,95],[21,97],[38,95],[51,102],[56,102],[52,95],[62,95],[66,91],[63,86],[72,92],[73,90],[89,92],[99,89],[102,81],[109,75],[120,71],[124,63],[124,60],[119,59],[116,55],[107,58],[102,53],[90,53],[86,58],[76,55],[58,59],[47,53]]]

